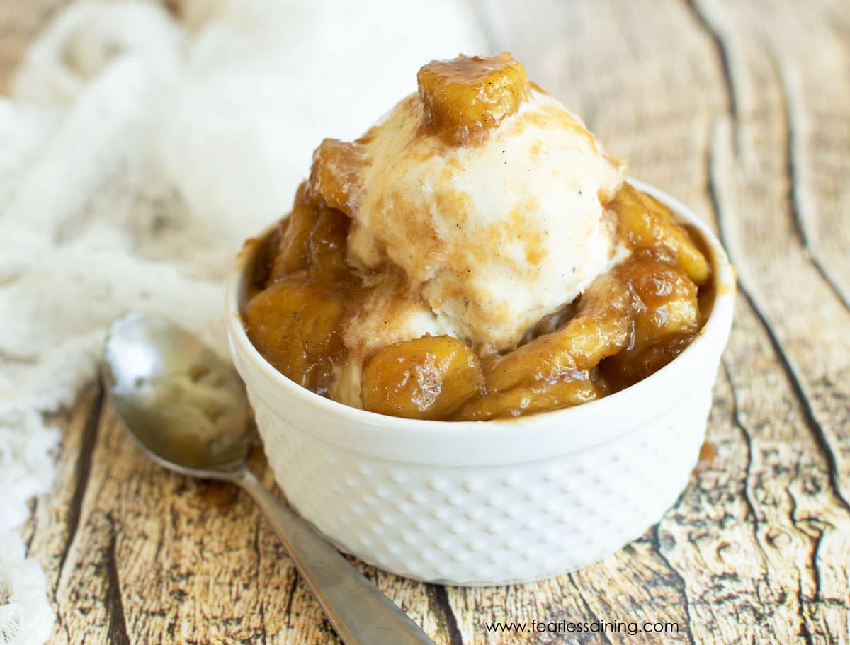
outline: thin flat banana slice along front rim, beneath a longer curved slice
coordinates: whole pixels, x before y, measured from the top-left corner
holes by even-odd
[[[582,371],[554,383],[542,382],[507,392],[486,394],[469,401],[453,418],[457,421],[504,419],[579,405],[604,394],[604,382],[592,382],[587,371]]]

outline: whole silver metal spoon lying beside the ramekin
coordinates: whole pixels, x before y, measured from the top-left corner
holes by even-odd
[[[154,461],[190,477],[246,489],[346,645],[433,645],[248,470],[251,410],[239,376],[212,350],[166,318],[130,312],[110,327],[104,378],[127,431]]]

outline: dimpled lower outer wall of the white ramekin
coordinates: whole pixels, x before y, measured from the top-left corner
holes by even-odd
[[[578,569],[641,535],[688,481],[711,391],[618,441],[498,467],[376,458],[252,404],[280,488],[321,533],[381,569],[469,586]]]

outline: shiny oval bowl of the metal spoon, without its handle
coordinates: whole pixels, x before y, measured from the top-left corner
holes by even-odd
[[[235,370],[190,332],[132,311],[106,337],[104,377],[127,430],[156,461],[193,477],[242,467],[251,409]]]

